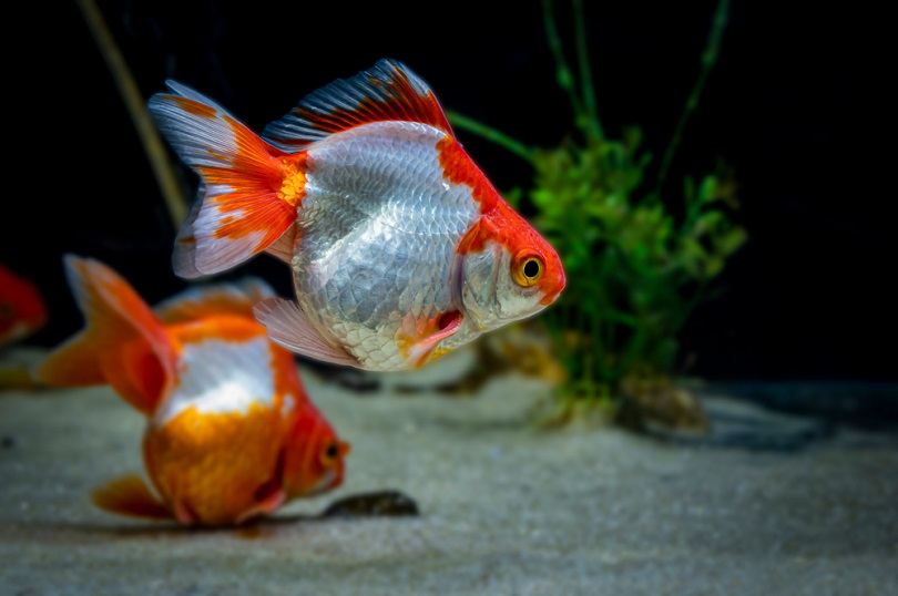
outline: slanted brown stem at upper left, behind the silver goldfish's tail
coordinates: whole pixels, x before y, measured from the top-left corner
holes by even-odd
[[[95,0],[76,1],[91,35],[96,42],[100,54],[106,62],[112,79],[119,88],[119,93],[122,95],[125,107],[127,107],[131,121],[137,130],[137,136],[141,138],[146,157],[150,160],[153,174],[165,199],[165,206],[169,208],[169,215],[175,228],[177,228],[187,215],[187,201],[175,177],[174,168],[169,160],[165,146],[162,144],[162,138],[160,138],[153,120],[146,111],[137,83],[127,69],[127,63],[103,20],[103,14],[100,12]]]

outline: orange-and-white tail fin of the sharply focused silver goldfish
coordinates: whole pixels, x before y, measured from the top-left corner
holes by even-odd
[[[169,81],[150,112],[181,158],[203,178],[202,204],[178,234],[175,273],[192,278],[239,265],[296,220],[305,194],[305,153],[286,154],[223,107]]]

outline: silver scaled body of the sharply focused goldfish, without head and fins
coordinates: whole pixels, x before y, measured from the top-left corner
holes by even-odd
[[[400,339],[409,318],[463,314],[457,247],[479,216],[471,188],[446,179],[442,131],[376,122],[308,148],[292,269],[309,322],[369,370],[409,368]],[[481,333],[467,317],[441,342]]]

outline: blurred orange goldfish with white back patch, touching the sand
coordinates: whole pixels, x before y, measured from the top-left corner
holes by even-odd
[[[192,289],[152,310],[115,271],[67,256],[84,329],[35,377],[109,384],[146,417],[136,474],[93,493],[123,515],[182,525],[238,524],[343,482],[349,444],[305,393],[293,356],[272,343],[252,305],[259,281]]]

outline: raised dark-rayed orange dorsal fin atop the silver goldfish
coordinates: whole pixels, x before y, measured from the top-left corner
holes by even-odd
[[[452,134],[427,83],[401,62],[385,59],[312,92],[283,119],[268,124],[262,136],[283,151],[295,152],[330,134],[380,121],[422,122]]]

